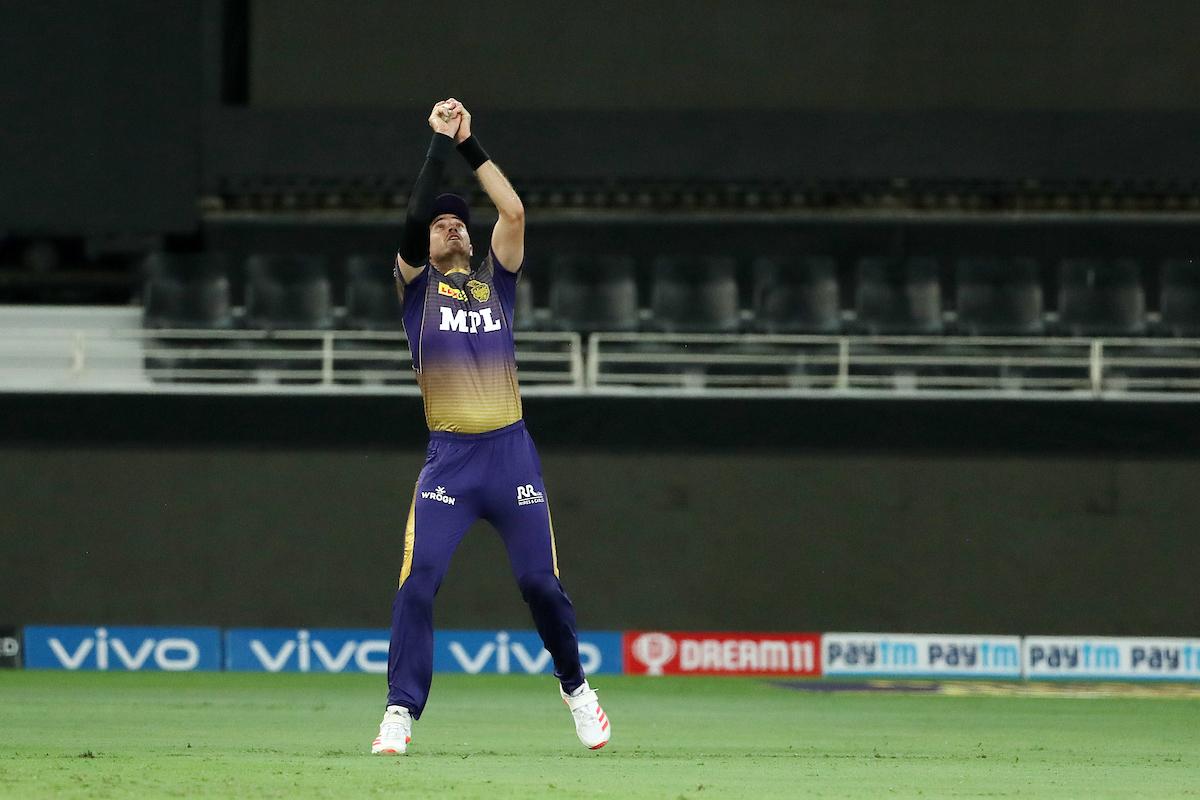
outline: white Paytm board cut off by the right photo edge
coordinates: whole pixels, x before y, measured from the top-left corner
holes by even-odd
[[[1200,680],[1200,639],[1027,636],[1025,676]]]

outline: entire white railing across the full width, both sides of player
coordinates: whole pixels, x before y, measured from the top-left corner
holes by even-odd
[[[1200,339],[517,333],[529,395],[1200,401]],[[0,391],[418,392],[401,332],[6,327]]]

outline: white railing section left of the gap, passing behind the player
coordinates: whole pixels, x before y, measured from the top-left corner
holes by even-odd
[[[522,390],[578,393],[578,333],[517,333]],[[419,392],[408,339],[384,331],[2,331],[0,390]]]

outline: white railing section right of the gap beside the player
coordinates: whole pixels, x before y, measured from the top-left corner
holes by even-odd
[[[592,391],[1200,399],[1200,341],[598,333]]]

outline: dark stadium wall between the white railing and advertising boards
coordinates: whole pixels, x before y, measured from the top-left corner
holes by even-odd
[[[379,626],[413,397],[2,397],[0,621]],[[1186,636],[1187,404],[529,399],[592,630]],[[524,627],[473,531],[437,622]]]

